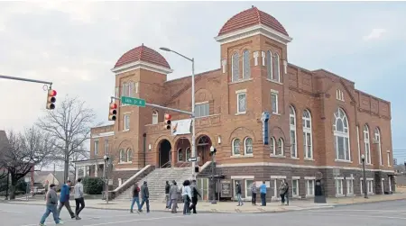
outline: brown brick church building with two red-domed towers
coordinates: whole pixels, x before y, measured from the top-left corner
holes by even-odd
[[[219,68],[195,77],[198,178],[211,172],[213,146],[216,174],[240,182],[245,198],[262,181],[268,196],[277,197],[282,179],[292,197],[309,198],[317,175],[328,196],[360,195],[364,155],[368,194],[394,190],[390,102],[327,70],[291,64],[288,32],[254,6],[230,18],[215,40]],[[129,50],[112,71],[115,96],[191,111],[191,78],[167,80],[172,68],[157,50]],[[117,120],[92,128],[91,159],[79,167],[101,176],[100,159],[110,156],[115,187],[147,165],[189,167],[191,134],[173,135],[163,125],[164,113],[171,113],[172,126],[178,120],[189,126],[188,115],[116,104]]]

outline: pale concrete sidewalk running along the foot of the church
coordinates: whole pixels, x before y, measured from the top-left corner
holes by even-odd
[[[198,203],[198,212],[288,212],[288,211],[299,211],[299,210],[311,210],[320,208],[333,208],[340,205],[349,205],[356,203],[376,203],[384,201],[393,200],[403,200],[406,199],[406,194],[379,194],[379,195],[369,195],[368,199],[364,199],[364,196],[356,197],[343,197],[343,198],[328,198],[327,203],[313,203],[310,200],[291,200],[290,205],[281,205],[280,202],[267,203],[266,206],[253,206],[249,202],[245,202],[243,206],[236,206],[236,202],[221,202],[217,204],[211,204],[208,202]],[[43,200],[30,200],[30,201],[9,201],[8,203],[19,203],[19,204],[32,204],[32,205],[43,205]],[[110,201],[108,204],[99,199],[88,199],[86,200],[86,208],[92,209],[105,209],[105,210],[126,210],[130,208],[131,201]],[[183,203],[178,203],[181,212],[183,210]],[[152,212],[169,212],[164,209],[165,203],[161,202],[151,202],[150,203]],[[145,208],[145,206],[143,207]]]

